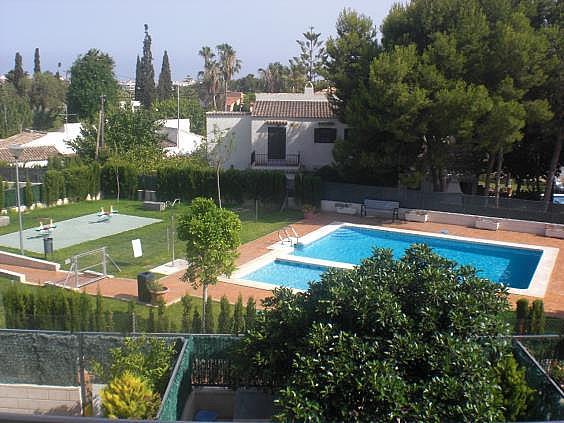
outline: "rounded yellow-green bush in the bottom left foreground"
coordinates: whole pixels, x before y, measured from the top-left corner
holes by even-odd
[[[129,371],[113,378],[100,397],[105,415],[110,419],[153,419],[160,406],[158,394]]]

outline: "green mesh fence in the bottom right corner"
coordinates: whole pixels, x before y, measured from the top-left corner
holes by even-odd
[[[560,354],[559,338],[531,337],[516,338],[513,352],[517,361],[525,367],[527,383],[537,390],[530,419],[560,420],[564,418],[564,395],[558,385],[551,381],[543,368],[547,360],[557,359]],[[550,357],[550,359],[549,359]]]

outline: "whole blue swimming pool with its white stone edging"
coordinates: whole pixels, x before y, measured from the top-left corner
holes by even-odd
[[[330,268],[350,269],[372,255],[374,248],[390,248],[395,258],[415,243],[437,254],[470,265],[478,275],[509,287],[509,292],[543,297],[556,263],[558,249],[448,234],[335,222],[300,238],[302,245],[275,244],[273,251],[239,268],[228,280],[272,289],[287,286],[305,290]]]

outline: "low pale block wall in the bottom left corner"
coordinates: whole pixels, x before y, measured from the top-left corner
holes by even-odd
[[[80,387],[0,384],[0,413],[80,416]]]

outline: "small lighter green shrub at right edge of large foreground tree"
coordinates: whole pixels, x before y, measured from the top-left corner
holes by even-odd
[[[513,356],[507,355],[498,361],[495,372],[503,394],[505,421],[514,422],[526,418],[535,390],[527,385],[525,368],[520,367]]]

